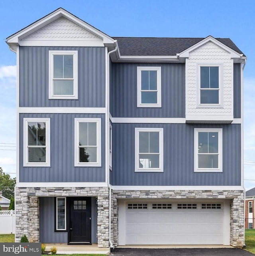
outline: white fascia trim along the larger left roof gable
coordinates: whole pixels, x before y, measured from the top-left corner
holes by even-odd
[[[24,37],[31,30],[35,30],[37,27],[39,27],[39,29],[41,29],[43,27],[44,23],[47,22],[47,24],[49,24],[49,22],[53,22],[53,21],[55,21],[55,20],[57,20],[61,17],[67,18],[68,20],[70,20],[71,22],[74,22],[75,24],[84,28],[85,30],[89,30],[89,32],[91,32],[91,33],[97,35],[99,38],[101,38],[104,43],[108,43],[108,44],[112,43],[113,44],[114,41],[115,41],[110,36],[104,34],[100,30],[97,30],[96,28],[94,28],[93,26],[84,22],[83,20],[80,20],[79,18],[77,18],[76,16],[71,14],[70,12],[67,12],[64,9],[59,8],[59,9],[55,10],[54,12],[52,12],[51,14],[48,14],[47,16],[45,16],[45,17],[41,18],[40,20],[32,23],[31,25],[29,25],[26,28],[20,30],[19,32],[15,33],[14,35],[8,37],[7,38],[7,43],[8,44],[9,43],[18,43],[18,39],[20,38],[20,36]]]

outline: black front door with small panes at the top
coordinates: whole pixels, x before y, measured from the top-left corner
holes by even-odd
[[[91,244],[91,198],[70,198],[70,243]]]

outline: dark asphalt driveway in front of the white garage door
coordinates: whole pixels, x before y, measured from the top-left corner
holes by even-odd
[[[179,248],[136,249],[115,248],[112,256],[254,256],[251,252],[236,248]]]

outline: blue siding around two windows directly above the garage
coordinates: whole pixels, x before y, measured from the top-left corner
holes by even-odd
[[[135,127],[163,128],[164,172],[135,172]],[[222,128],[223,172],[194,173],[194,128]],[[110,183],[116,186],[240,186],[239,124],[113,124]]]

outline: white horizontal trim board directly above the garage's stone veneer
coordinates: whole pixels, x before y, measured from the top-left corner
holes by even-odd
[[[241,190],[242,186],[112,186],[113,190]],[[226,198],[228,199],[228,198]]]

